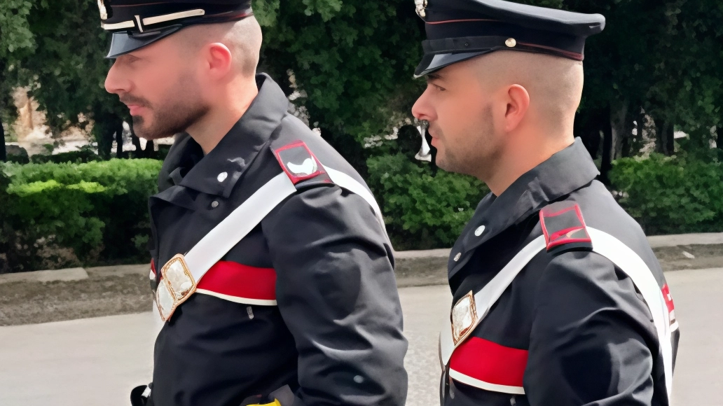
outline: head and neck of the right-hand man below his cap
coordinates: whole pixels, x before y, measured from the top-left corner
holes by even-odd
[[[499,194],[573,143],[582,90],[579,61],[495,51],[428,74],[412,113],[429,121],[440,168]]]

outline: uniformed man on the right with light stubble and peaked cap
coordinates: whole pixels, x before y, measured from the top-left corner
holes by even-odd
[[[638,224],[573,136],[583,48],[604,27],[500,0],[419,0],[412,109],[437,165],[482,199],[448,262],[443,405],[669,405],[677,323]]]

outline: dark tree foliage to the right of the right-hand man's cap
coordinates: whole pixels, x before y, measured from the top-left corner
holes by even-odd
[[[604,170],[612,159],[636,155],[643,133],[666,155],[675,153],[674,129],[690,134],[690,147],[709,148],[710,129],[722,119],[723,3],[565,0],[563,7],[607,18],[586,47],[577,123],[583,132],[604,133]]]

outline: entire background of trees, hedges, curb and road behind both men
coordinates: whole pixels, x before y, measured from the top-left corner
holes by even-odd
[[[674,399],[723,406],[723,1],[518,2],[607,17],[587,42],[576,135],[666,271],[683,332]],[[260,72],[380,202],[399,251],[408,405],[434,405],[448,247],[488,189],[415,158],[414,1],[253,8]],[[134,135],[103,88],[109,44],[95,0],[0,0],[1,405],[126,405],[150,379],[147,199],[174,139]]]

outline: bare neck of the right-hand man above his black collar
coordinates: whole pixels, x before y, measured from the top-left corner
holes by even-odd
[[[495,196],[500,196],[520,176],[575,142],[572,131],[560,136],[535,134],[532,137],[513,136],[509,139],[510,142],[500,151],[500,158],[495,162],[494,171],[489,176],[480,177]],[[539,140],[539,142],[530,142],[530,140]]]

